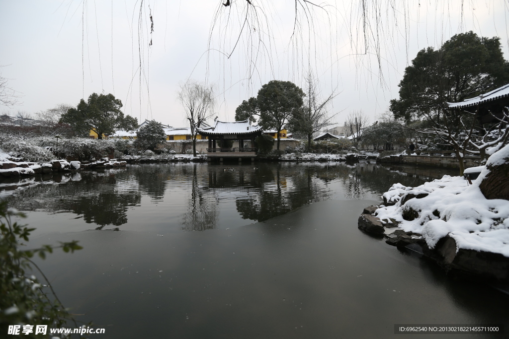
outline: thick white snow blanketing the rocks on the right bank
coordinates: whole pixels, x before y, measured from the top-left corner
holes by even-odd
[[[494,153],[486,165],[498,165],[506,159],[509,159],[509,145]],[[397,202],[393,206],[378,208],[376,216],[384,223],[391,223],[390,219],[393,219],[400,223],[399,228],[422,234],[430,248],[449,234],[459,248],[509,257],[509,201],[486,199],[479,189],[489,171],[483,169],[471,185],[464,177],[449,175],[415,188],[395,183],[383,196],[387,201]],[[402,205],[407,194],[428,195],[410,199]],[[418,217],[404,220],[403,213],[412,210],[418,211]]]

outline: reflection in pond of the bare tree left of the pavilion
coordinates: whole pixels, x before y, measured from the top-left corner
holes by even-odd
[[[196,164],[192,165],[191,192],[184,214],[183,229],[186,231],[205,231],[214,229],[219,213],[217,204],[200,189],[196,174]]]

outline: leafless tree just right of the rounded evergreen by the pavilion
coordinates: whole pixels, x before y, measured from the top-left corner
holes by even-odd
[[[332,125],[331,119],[337,114],[328,116],[329,105],[337,94],[332,93],[325,99],[322,98],[321,89],[318,80],[312,73],[306,76],[303,109],[294,114],[289,122],[289,127],[293,133],[305,135],[307,138],[307,149],[311,147],[313,134]]]

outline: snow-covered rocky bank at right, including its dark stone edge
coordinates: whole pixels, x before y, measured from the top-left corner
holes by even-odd
[[[509,146],[494,153],[471,184],[449,175],[414,188],[395,183],[383,205],[364,210],[358,227],[400,248],[419,245],[446,270],[509,281],[509,200],[487,199],[479,188],[490,168],[507,160]]]

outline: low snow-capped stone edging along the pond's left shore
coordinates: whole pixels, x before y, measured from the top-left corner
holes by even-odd
[[[65,160],[52,160],[48,163],[5,161],[0,162],[0,177],[33,176],[37,174],[68,172],[82,169],[120,168],[126,165],[127,162],[125,161],[117,161],[108,158],[103,158],[94,162],[67,162]]]

